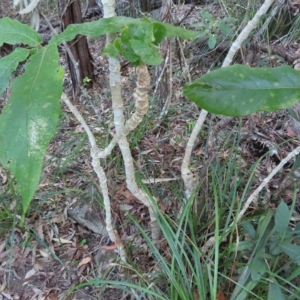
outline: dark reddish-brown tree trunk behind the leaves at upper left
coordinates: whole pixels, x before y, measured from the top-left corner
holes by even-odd
[[[82,23],[79,0],[58,0],[58,7],[59,15],[62,20],[62,30],[66,29],[69,24]],[[91,79],[90,82],[85,84],[85,87],[89,88],[92,86],[94,80],[94,66],[92,64],[92,56],[85,36],[77,35],[73,41],[68,42],[68,46],[77,63],[77,66],[74,66],[73,61],[68,55],[68,65],[71,73],[73,91],[75,95],[77,95],[80,92],[80,87],[83,85],[84,78]]]

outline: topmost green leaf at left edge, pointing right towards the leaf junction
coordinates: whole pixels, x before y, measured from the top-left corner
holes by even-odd
[[[10,18],[0,19],[0,47],[3,43],[11,45],[22,43],[36,47],[41,42],[40,35],[31,27]]]

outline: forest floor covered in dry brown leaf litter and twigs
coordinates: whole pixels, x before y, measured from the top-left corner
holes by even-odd
[[[10,5],[6,5],[7,3],[8,1],[0,2],[0,17],[7,15],[16,17],[16,12]],[[180,9],[184,14],[190,8],[191,5],[185,5]],[[186,18],[185,24],[195,23],[202,10],[209,11],[216,19],[224,14],[218,4],[198,5]],[[57,16],[52,15],[51,20],[55,19],[57,20]],[[88,90],[90,98],[75,99],[77,108],[102,146],[107,145],[114,133],[107,59],[101,56],[104,43],[103,38],[89,39],[97,80],[93,88]],[[208,49],[205,41],[198,44],[187,42],[183,47],[193,79],[211,68],[219,67],[226,55],[226,47],[221,51],[212,51]],[[263,47],[247,49],[247,53],[253,51],[255,57],[251,65],[276,66],[282,64],[284,60],[292,63],[298,58],[300,48],[298,45],[285,45],[275,49],[274,52],[277,51],[275,54],[267,53],[262,49]],[[161,211],[170,217],[178,214],[184,197],[183,183],[180,179],[181,161],[187,138],[199,115],[199,109],[182,95],[182,86],[188,82],[188,79],[180,67],[177,54],[177,51],[172,51],[173,96],[167,114],[158,120],[164,106],[164,98],[159,93],[150,95],[148,116],[136,132],[129,136],[140,183],[145,184],[159,199]],[[245,62],[243,54],[241,51],[237,55],[236,63]],[[70,79],[63,51],[61,63],[66,68],[65,86],[68,88]],[[136,75],[134,68],[126,65],[125,62],[122,62],[122,65],[124,65],[122,67],[123,97],[125,113],[128,117],[134,109],[131,100]],[[154,91],[158,84],[156,80],[158,75],[154,68],[150,69],[150,73],[153,79],[152,91]],[[4,97],[7,97],[7,94]],[[4,101],[0,103],[0,109],[3,104]],[[256,179],[251,189],[257,187],[266,174],[291,149],[298,146],[299,142],[295,139],[296,133],[289,125],[289,119],[290,116],[285,111],[281,111],[265,115],[254,114],[240,120],[239,147],[241,161],[244,164],[242,167],[251,166],[263,157],[256,170]],[[160,124],[156,126],[158,121]],[[207,119],[193,151],[191,162],[193,172],[201,173],[206,178],[209,164],[216,160],[224,161],[230,156],[229,147],[218,145],[226,143],[229,133],[237,130],[235,127],[237,123],[239,122],[236,120],[224,123],[222,117],[210,116]],[[218,140],[206,140],[207,135],[217,135]],[[231,141],[227,143],[230,144]],[[278,146],[279,144],[281,146]],[[270,149],[276,151],[271,155],[265,155]],[[122,159],[118,149],[114,150],[104,165],[116,230],[127,250],[128,261],[131,266],[134,266],[132,268],[138,269],[139,274],[146,276],[150,271],[155,270],[157,262],[152,257],[149,246],[138,228],[127,214],[135,218],[149,233],[150,219],[147,209],[126,188]],[[278,194],[277,188],[291,166],[286,166],[285,171],[269,184],[268,193]],[[150,179],[153,178],[156,181],[151,183]],[[113,285],[99,287],[91,283],[97,278],[105,277],[120,282],[130,278],[132,283],[138,284],[138,278],[129,268],[119,267],[113,246],[105,236],[99,232],[95,233],[97,230],[105,231],[102,228],[105,225],[101,208],[101,191],[91,166],[89,144],[84,130],[66,107],[63,107],[57,135],[49,145],[42,179],[27,216],[25,229],[19,229],[16,225],[20,205],[12,196],[9,186],[11,180],[1,166],[0,182],[2,193],[0,195],[2,210],[0,213],[0,300],[56,300],[63,297],[77,300],[136,299],[135,296],[130,296]],[[203,179],[203,184],[208,184],[206,179]],[[292,193],[284,190],[281,196],[288,202],[292,198]],[[273,205],[276,206],[276,202],[273,202]],[[84,210],[81,216],[73,212],[78,207],[79,210]],[[87,224],[87,218],[92,224]],[[156,243],[156,247],[163,256],[170,255],[164,238]],[[219,300],[221,299],[226,299],[225,294],[220,295]]]

